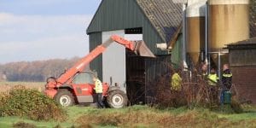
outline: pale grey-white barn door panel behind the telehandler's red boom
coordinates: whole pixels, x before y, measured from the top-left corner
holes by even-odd
[[[102,32],[102,43],[104,43],[111,35],[116,34],[125,37],[125,31]],[[102,81],[112,85],[119,84],[122,90],[125,90],[125,47],[121,44],[110,44],[108,49],[102,54]]]

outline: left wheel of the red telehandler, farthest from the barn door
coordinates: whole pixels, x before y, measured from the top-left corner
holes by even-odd
[[[74,104],[73,94],[69,90],[58,90],[55,96],[55,102],[63,107],[72,106]]]

